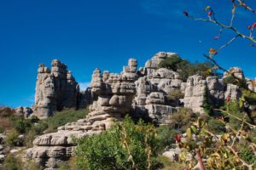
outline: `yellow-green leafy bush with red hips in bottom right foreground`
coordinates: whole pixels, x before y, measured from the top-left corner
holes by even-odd
[[[229,107],[232,105],[228,105],[226,111],[218,110],[223,114],[218,121],[224,123],[227,133],[216,135],[208,123],[199,118],[187,129],[186,139],[177,141],[182,150],[180,161],[185,162],[189,169],[253,170],[256,167],[256,144],[249,135],[256,126],[247,121],[246,113],[235,116]],[[238,121],[237,128],[231,126],[228,121],[231,118]]]

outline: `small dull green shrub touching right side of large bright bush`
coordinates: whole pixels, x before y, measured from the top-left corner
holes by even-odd
[[[159,152],[169,149],[171,147],[171,144],[175,144],[174,138],[178,134],[178,131],[176,129],[164,125],[157,128],[157,133],[157,138],[159,140],[159,142],[157,143]]]

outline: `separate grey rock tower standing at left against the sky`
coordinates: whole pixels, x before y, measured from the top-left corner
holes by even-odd
[[[77,106],[79,85],[71,72],[67,71],[67,65],[54,59],[51,66],[51,70],[44,64],[38,68],[33,113],[38,118],[45,118],[53,115],[55,111]]]

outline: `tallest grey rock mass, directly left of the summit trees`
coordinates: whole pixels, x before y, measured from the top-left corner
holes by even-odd
[[[133,100],[135,116],[144,118],[148,116],[157,124],[168,124],[168,116],[177,111],[175,108],[177,105],[169,104],[166,96],[181,88],[182,80],[176,71],[158,68],[160,61],[172,55],[177,54],[164,52],[155,54],[138,72],[141,77],[135,82],[137,88]]]

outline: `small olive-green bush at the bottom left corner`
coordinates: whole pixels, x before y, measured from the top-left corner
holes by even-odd
[[[6,156],[3,161],[3,167],[5,170],[22,170],[22,167],[20,167],[20,160],[11,154]]]

